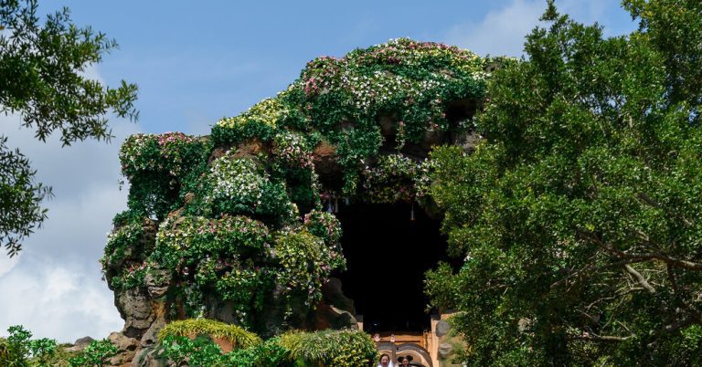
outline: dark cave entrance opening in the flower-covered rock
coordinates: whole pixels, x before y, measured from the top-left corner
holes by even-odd
[[[335,277],[363,315],[364,330],[430,329],[424,272],[440,260],[456,262],[446,255],[441,222],[416,204],[413,210],[410,204],[341,204],[336,217],[347,270]]]

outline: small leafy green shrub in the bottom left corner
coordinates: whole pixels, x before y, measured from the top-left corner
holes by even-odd
[[[31,340],[32,333],[22,326],[7,329],[7,338],[0,338],[0,365],[6,367],[48,366],[56,353],[56,341]]]

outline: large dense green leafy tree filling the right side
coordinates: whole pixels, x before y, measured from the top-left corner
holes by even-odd
[[[432,153],[465,257],[431,272],[470,365],[702,363],[698,1],[625,1],[603,37],[552,2],[495,73],[475,152]]]

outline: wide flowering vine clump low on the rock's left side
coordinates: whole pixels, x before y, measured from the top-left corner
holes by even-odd
[[[264,297],[274,286],[274,269],[254,262],[270,256],[266,225],[246,216],[185,217],[177,225],[165,221],[156,239],[148,261],[198,292],[216,290],[221,299],[232,301],[239,322],[253,325],[255,312],[263,309]],[[188,313],[197,316],[201,299],[190,300]]]

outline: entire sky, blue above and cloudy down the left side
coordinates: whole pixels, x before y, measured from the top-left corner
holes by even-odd
[[[207,134],[296,79],[305,63],[343,56],[389,38],[443,42],[479,55],[520,56],[545,0],[298,2],[51,1],[73,21],[117,39],[120,48],[87,70],[91,78],[139,85],[140,121],[113,120],[112,143],[83,142],[60,149],[36,142],[16,116],[0,116],[8,145],[19,147],[54,187],[49,219],[20,257],[0,256],[0,335],[24,324],[37,337],[74,341],[106,337],[122,328],[112,293],[101,281],[105,235],[126,206],[117,152],[131,133]],[[607,35],[633,30],[614,0],[561,0],[575,19],[598,21]]]

